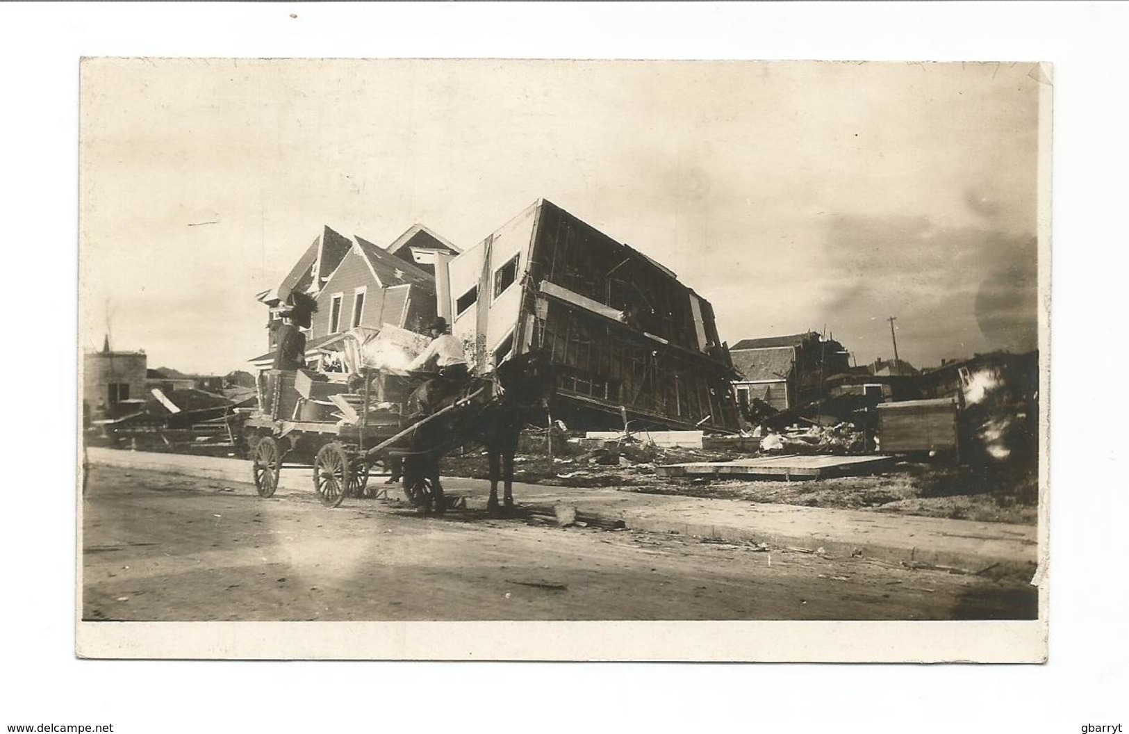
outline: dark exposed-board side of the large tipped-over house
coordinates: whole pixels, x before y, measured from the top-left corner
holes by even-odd
[[[735,427],[728,369],[703,352],[717,333],[709,304],[641,253],[550,202],[540,209],[528,273],[555,288],[539,287],[526,308],[532,344],[561,367],[561,393],[682,427]]]

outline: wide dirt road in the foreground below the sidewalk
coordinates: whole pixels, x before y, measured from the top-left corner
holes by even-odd
[[[87,620],[1034,619],[1033,587],[97,466]]]

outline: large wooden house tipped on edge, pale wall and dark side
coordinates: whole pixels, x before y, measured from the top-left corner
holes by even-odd
[[[542,199],[439,260],[439,315],[476,369],[544,350],[559,368],[554,419],[736,430],[712,307],[641,252]]]

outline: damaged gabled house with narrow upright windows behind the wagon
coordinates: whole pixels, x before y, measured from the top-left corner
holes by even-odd
[[[274,358],[278,306],[292,292],[313,296],[317,304],[306,334],[306,360],[322,359],[322,344],[355,326],[379,329],[392,324],[422,332],[436,315],[434,265],[415,260],[418,251],[458,253],[449,242],[414,225],[387,250],[361,237],[349,239],[325,227],[274,290],[260,294],[271,307],[270,351],[251,364],[268,369]]]

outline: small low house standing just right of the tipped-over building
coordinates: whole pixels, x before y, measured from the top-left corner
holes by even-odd
[[[741,375],[733,386],[738,404],[754,400],[776,410],[804,405],[824,394],[824,381],[849,372],[843,346],[817,332],[743,339],[729,348],[733,368]]]

